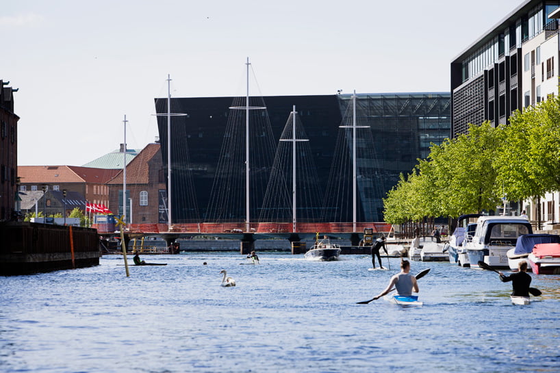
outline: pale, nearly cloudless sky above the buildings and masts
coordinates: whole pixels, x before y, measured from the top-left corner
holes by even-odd
[[[157,133],[154,98],[449,92],[450,62],[521,0],[18,0],[0,15],[19,166]],[[483,11],[482,11],[483,10]],[[287,110],[289,115],[290,108]]]

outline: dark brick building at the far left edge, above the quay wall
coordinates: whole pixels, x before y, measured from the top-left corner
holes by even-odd
[[[0,80],[0,221],[13,220],[17,204],[17,164],[19,117],[14,114],[17,89]]]

